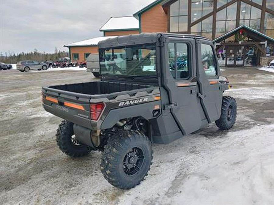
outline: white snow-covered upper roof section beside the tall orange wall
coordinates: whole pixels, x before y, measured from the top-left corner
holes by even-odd
[[[139,21],[133,16],[111,17],[100,31],[139,29]]]

